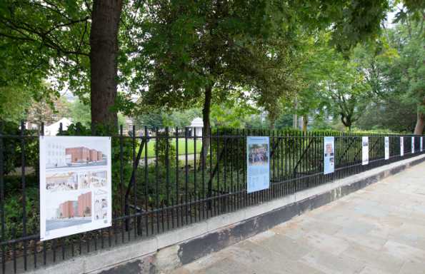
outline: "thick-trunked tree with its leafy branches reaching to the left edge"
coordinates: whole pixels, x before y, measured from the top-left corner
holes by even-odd
[[[120,0],[1,1],[0,36],[14,64],[39,78],[54,76],[56,90],[69,86],[91,103],[93,124],[116,125],[122,6]]]

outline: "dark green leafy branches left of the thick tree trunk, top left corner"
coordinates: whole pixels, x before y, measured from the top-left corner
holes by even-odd
[[[89,57],[88,44],[84,42],[90,16],[89,9],[78,9],[80,4],[83,6],[83,1],[8,0],[0,3],[2,53],[6,51],[9,55],[4,70],[16,75],[18,82],[24,83],[29,91],[29,97],[36,101],[59,96],[61,76],[71,78],[68,76],[72,74],[75,82],[70,81],[71,86],[79,82],[79,88],[84,88],[86,81],[79,80],[84,78],[84,60],[88,61]],[[56,72],[60,74],[58,85],[46,89],[44,81]],[[6,73],[2,73],[4,75]],[[48,91],[53,94],[47,94]]]

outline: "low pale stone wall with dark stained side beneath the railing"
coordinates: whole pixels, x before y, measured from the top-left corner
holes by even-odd
[[[219,215],[144,240],[82,255],[30,273],[166,273],[422,161],[425,161],[425,155],[390,163],[283,198]]]

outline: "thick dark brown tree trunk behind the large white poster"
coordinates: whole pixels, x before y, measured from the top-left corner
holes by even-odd
[[[118,29],[122,0],[94,0],[91,13],[91,125],[116,128]]]

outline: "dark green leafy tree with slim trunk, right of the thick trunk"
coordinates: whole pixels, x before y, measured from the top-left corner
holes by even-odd
[[[344,51],[379,30],[387,7],[383,0],[148,1],[134,21],[132,89],[143,107],[201,104],[208,136],[211,103],[229,94],[248,90],[275,112],[291,89],[287,65],[299,25],[331,28],[332,43]]]

